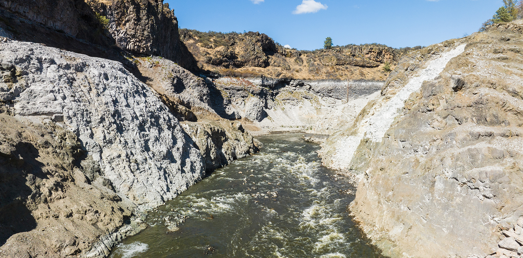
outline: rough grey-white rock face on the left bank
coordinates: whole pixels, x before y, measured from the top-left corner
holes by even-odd
[[[12,112],[63,119],[119,193],[154,206],[201,178],[203,162],[190,137],[120,63],[35,43],[1,46],[0,62],[27,73],[8,91],[13,94],[2,95],[12,98]]]

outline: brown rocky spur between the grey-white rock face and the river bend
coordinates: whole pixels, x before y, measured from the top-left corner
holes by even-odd
[[[161,57],[137,58],[135,63],[147,85],[160,93],[198,146],[206,171],[259,150],[260,143],[244,130],[242,123],[229,120],[236,117],[223,112],[226,103],[211,80]]]

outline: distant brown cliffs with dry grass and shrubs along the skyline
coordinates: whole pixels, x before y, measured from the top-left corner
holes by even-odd
[[[380,44],[298,51],[283,48],[259,32],[180,30],[180,38],[201,68],[233,77],[382,80],[385,63],[395,65],[406,50]]]

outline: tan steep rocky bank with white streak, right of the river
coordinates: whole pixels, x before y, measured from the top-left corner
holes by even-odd
[[[495,25],[409,54],[327,140],[325,164],[361,175],[350,210],[385,253],[518,257],[522,33]]]

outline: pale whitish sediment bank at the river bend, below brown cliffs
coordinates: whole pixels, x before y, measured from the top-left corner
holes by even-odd
[[[306,131],[331,134],[354,120],[382,81],[220,78],[226,112],[254,122],[259,131]],[[247,127],[248,128],[248,127]],[[255,133],[255,132],[253,132]]]

